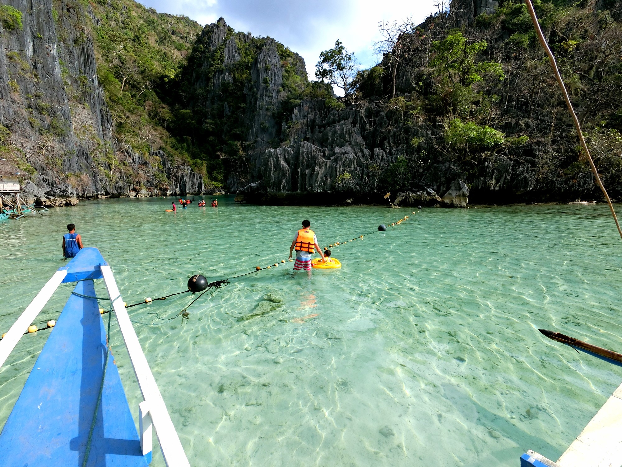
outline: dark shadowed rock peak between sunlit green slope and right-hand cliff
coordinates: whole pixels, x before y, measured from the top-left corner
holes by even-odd
[[[192,141],[187,150],[197,157],[219,154],[209,163],[212,174],[237,189],[249,181],[246,154],[279,145],[292,94],[307,83],[300,55],[270,37],[235,32],[220,18],[203,28],[169,101],[181,112],[187,100],[192,123],[171,131]]]

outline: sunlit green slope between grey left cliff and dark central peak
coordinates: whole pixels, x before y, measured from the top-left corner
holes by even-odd
[[[164,149],[190,161],[167,132],[174,116],[159,89],[175,79],[201,27],[132,0],[98,0],[91,6],[98,20],[93,25],[98,78],[119,143],[143,153]]]

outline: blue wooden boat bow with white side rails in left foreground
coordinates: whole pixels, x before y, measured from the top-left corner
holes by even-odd
[[[103,279],[108,298],[95,295]],[[6,466],[146,466],[152,427],[167,466],[189,466],[108,263],[83,248],[59,268],[0,341],[0,366],[58,286],[76,283],[0,433]],[[98,300],[111,303],[106,324]],[[144,401],[137,432],[109,347],[112,313]],[[51,322],[50,322],[51,324]]]

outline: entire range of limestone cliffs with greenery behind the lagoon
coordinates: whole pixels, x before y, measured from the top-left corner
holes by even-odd
[[[453,0],[402,35],[399,65],[389,52],[340,99],[300,55],[223,18],[201,28],[132,0],[8,2],[0,156],[30,171],[40,202],[204,189],[253,202],[600,199],[519,0]],[[622,1],[537,9],[622,197]]]

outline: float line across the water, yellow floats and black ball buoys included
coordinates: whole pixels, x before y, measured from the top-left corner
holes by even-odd
[[[419,206],[419,209],[421,209],[421,207]],[[415,211],[412,212],[412,214],[417,214]],[[333,242],[330,243],[330,245],[328,247],[325,247],[324,250],[328,250],[328,248],[336,248],[336,247],[340,247],[343,245],[346,245],[347,243],[350,242],[354,242],[355,240],[363,240],[364,237],[367,237],[368,235],[371,234],[375,234],[376,232],[384,232],[385,230],[387,230],[389,227],[396,227],[397,225],[402,224],[402,222],[406,222],[406,220],[410,219],[411,216],[406,215],[404,217],[402,217],[402,219],[397,220],[396,222],[392,222],[391,224],[381,224],[378,226],[378,230],[373,230],[373,232],[369,232],[368,234],[363,234],[363,235],[359,235],[358,237],[355,238],[351,238],[350,240],[345,240],[343,242]],[[292,262],[293,260],[289,260],[290,262]],[[123,303],[123,305],[125,306],[125,308],[132,308],[132,306],[138,306],[138,305],[142,305],[142,304],[149,304],[152,303],[154,301],[157,300],[167,300],[167,298],[170,298],[172,296],[176,296],[176,295],[182,295],[184,293],[192,293],[193,295],[195,293],[201,292],[194,300],[192,300],[190,303],[188,303],[185,307],[183,307],[181,309],[181,311],[179,311],[179,313],[175,314],[174,316],[172,316],[171,318],[160,318],[159,313],[148,313],[148,314],[155,314],[156,318],[159,319],[160,321],[171,321],[172,319],[175,318],[179,318],[179,316],[182,317],[182,321],[187,321],[190,318],[190,313],[188,313],[188,308],[190,308],[190,306],[192,306],[197,300],[199,300],[203,294],[205,293],[210,293],[211,296],[214,295],[214,293],[228,285],[230,283],[230,281],[234,280],[234,279],[238,279],[244,276],[249,276],[251,274],[255,274],[258,273],[259,271],[263,271],[266,269],[271,269],[271,268],[275,268],[275,267],[279,267],[279,265],[286,263],[285,260],[281,260],[281,262],[276,262],[272,265],[268,265],[268,266],[257,266],[255,267],[255,269],[253,271],[250,271],[248,273],[243,273],[243,274],[239,274],[237,276],[231,276],[229,278],[226,279],[220,279],[220,280],[216,280],[213,282],[208,283],[207,279],[205,278],[205,276],[197,274],[192,276],[189,280],[188,280],[188,290],[183,290],[180,292],[175,292],[175,293],[171,293],[169,295],[164,295],[158,298],[151,298],[151,297],[147,297],[145,300],[143,301],[139,301],[137,303],[132,303],[132,304],[127,304],[127,303]],[[91,298],[93,300],[97,300],[98,303],[99,301],[109,301],[109,298],[104,298],[104,297],[98,297],[98,296],[90,296],[90,295],[82,295],[81,293],[77,293],[75,291],[72,291],[73,295],[77,295],[80,296],[82,298]],[[110,304],[110,306],[108,307],[108,309],[105,308],[99,308],[100,310],[100,314],[107,314],[107,313],[111,313],[111,311],[113,311],[113,306],[112,303]],[[137,324],[144,324],[146,326],[154,326],[154,324],[147,324],[147,323],[141,323],[141,321],[132,321],[132,323],[137,323]],[[47,322],[47,325],[43,328],[37,328],[37,326],[35,324],[32,324],[31,326],[29,326],[28,330],[26,331],[26,333],[24,333],[24,335],[26,334],[32,334],[32,333],[36,333],[37,331],[44,331],[45,329],[50,329],[53,328],[54,326],[56,326],[56,321],[55,320],[50,320]],[[0,337],[0,341],[4,338],[4,336],[6,335],[6,333],[2,334],[2,337]]]

